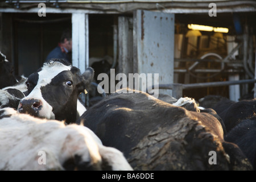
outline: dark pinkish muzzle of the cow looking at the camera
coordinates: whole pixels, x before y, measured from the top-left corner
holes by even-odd
[[[38,99],[20,100],[18,106],[19,113],[27,113],[33,116],[38,116],[40,109],[42,109],[42,102]]]

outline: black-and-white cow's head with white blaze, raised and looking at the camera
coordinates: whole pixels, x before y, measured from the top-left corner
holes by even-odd
[[[46,61],[27,79],[28,95],[20,100],[19,113],[35,117],[75,122],[77,98],[90,84],[92,68],[80,70],[63,59]]]

